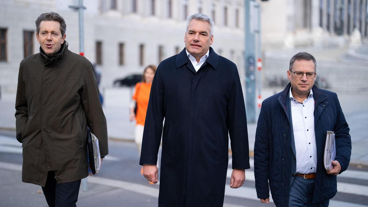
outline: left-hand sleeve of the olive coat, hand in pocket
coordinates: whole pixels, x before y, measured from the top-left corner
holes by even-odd
[[[22,131],[24,131],[28,121],[28,104],[25,97],[25,88],[23,82],[23,66],[22,62],[19,66],[17,96],[15,98],[15,128],[17,140],[21,142]]]

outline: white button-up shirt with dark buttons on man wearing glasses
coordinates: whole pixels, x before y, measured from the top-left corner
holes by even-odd
[[[307,99],[300,103],[291,93],[291,117],[296,152],[296,173],[315,173],[317,167],[317,147],[314,132],[314,99],[313,91],[309,92]]]

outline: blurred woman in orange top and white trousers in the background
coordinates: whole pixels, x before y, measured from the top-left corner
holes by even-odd
[[[151,85],[155,73],[156,66],[154,65],[149,65],[144,69],[142,81],[135,85],[135,92],[132,98],[133,100],[130,104],[129,119],[132,121],[135,118],[137,121],[137,124],[135,125],[134,141],[135,144],[137,144],[139,156],[141,156],[143,129],[144,122],[146,120],[149,93],[151,91]],[[141,168],[141,174],[143,175],[143,168]]]

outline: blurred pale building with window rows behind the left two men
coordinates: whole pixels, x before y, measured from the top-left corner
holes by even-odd
[[[35,20],[55,11],[67,24],[66,41],[78,49],[78,13],[69,5],[77,0],[1,0],[0,82],[15,90],[21,60],[39,52]],[[244,48],[243,0],[88,0],[84,1],[85,56],[102,73],[101,86],[184,49],[185,21],[205,13],[215,22],[213,48],[242,67]]]

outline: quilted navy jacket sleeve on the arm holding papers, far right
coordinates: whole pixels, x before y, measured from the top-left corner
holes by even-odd
[[[335,132],[335,140],[336,140],[336,158],[341,165],[340,173],[346,171],[351,156],[351,137],[349,134],[349,126],[345,120],[344,113],[341,109],[339,99],[335,94],[335,104],[336,104],[336,122],[333,127],[333,131]]]

